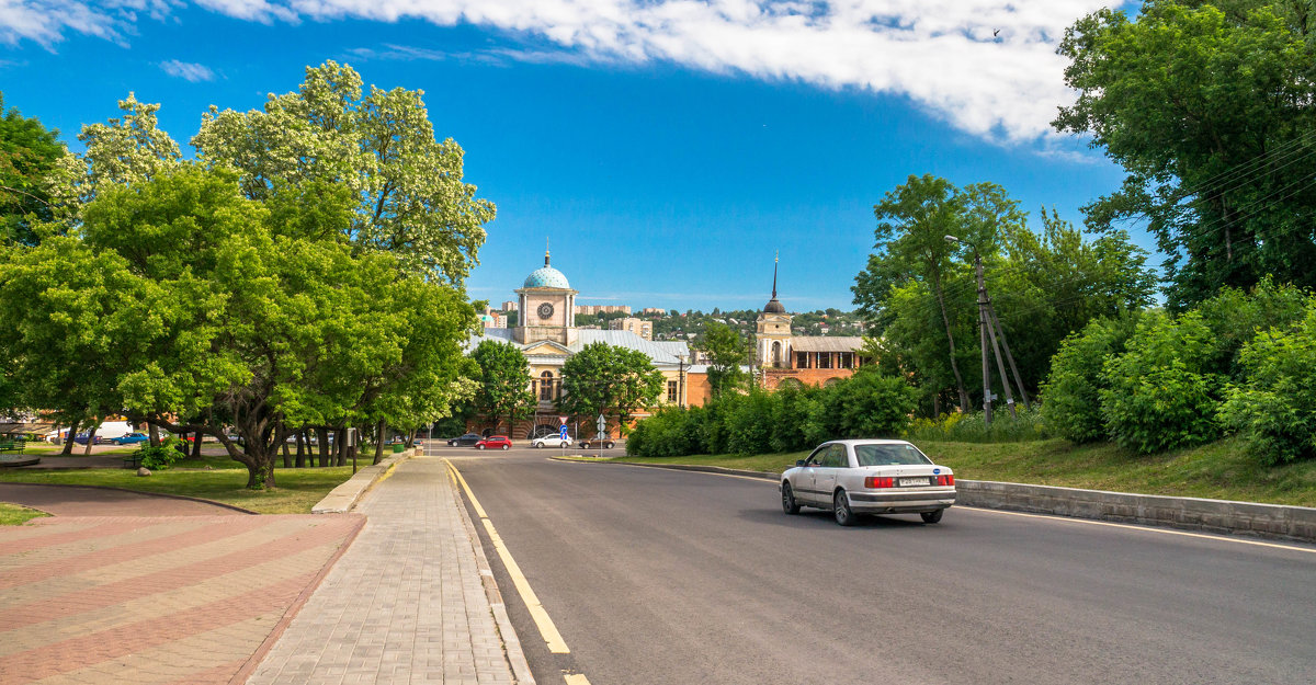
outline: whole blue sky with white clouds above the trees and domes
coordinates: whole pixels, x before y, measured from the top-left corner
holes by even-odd
[[[1071,97],[1055,41],[1092,0],[5,1],[5,103],[75,150],[129,91],[190,150],[209,105],[325,59],[424,89],[497,204],[467,281],[495,304],[549,241],[580,304],[758,308],[779,251],[788,309],[850,309],[873,205],[911,174],[1075,224],[1121,177],[1046,129]]]

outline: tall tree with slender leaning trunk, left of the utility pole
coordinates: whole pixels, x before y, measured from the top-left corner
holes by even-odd
[[[854,301],[861,313],[878,321],[878,333],[882,333],[895,319],[887,306],[894,289],[917,284],[919,292],[930,295],[932,308],[941,318],[940,337],[945,338],[945,350],[937,355],[940,363],[929,358],[924,367],[949,371],[946,380],[953,380],[959,409],[967,412],[971,408],[969,389],[959,372],[957,326],[946,292],[948,273],[955,268],[962,250],[945,237],[954,235],[963,245],[974,245],[990,258],[996,251],[998,235],[1021,225],[1024,216],[999,185],[980,183],[961,189],[932,175],[909,176],[873,210],[878,217],[876,242],[867,267],[855,276]],[[942,373],[929,376],[938,381],[945,377]]]

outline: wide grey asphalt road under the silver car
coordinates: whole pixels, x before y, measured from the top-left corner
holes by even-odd
[[[767,481],[436,452],[571,650],[486,540],[541,685],[1316,682],[1313,547],[967,508],[841,529]]]

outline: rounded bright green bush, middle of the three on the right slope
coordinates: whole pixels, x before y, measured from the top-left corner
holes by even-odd
[[[1220,435],[1220,379],[1207,372],[1213,334],[1202,316],[1145,317],[1124,354],[1103,367],[1105,430],[1141,454],[1211,442]]]

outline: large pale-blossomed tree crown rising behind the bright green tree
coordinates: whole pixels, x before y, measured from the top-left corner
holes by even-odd
[[[461,285],[478,263],[495,206],[462,180],[463,151],[438,142],[421,91],[371,87],[333,60],[307,67],[292,93],[261,110],[212,106],[192,138],[201,159],[232,166],[249,199],[283,185],[353,201],[340,234],[357,250],[391,254],[399,266]]]

